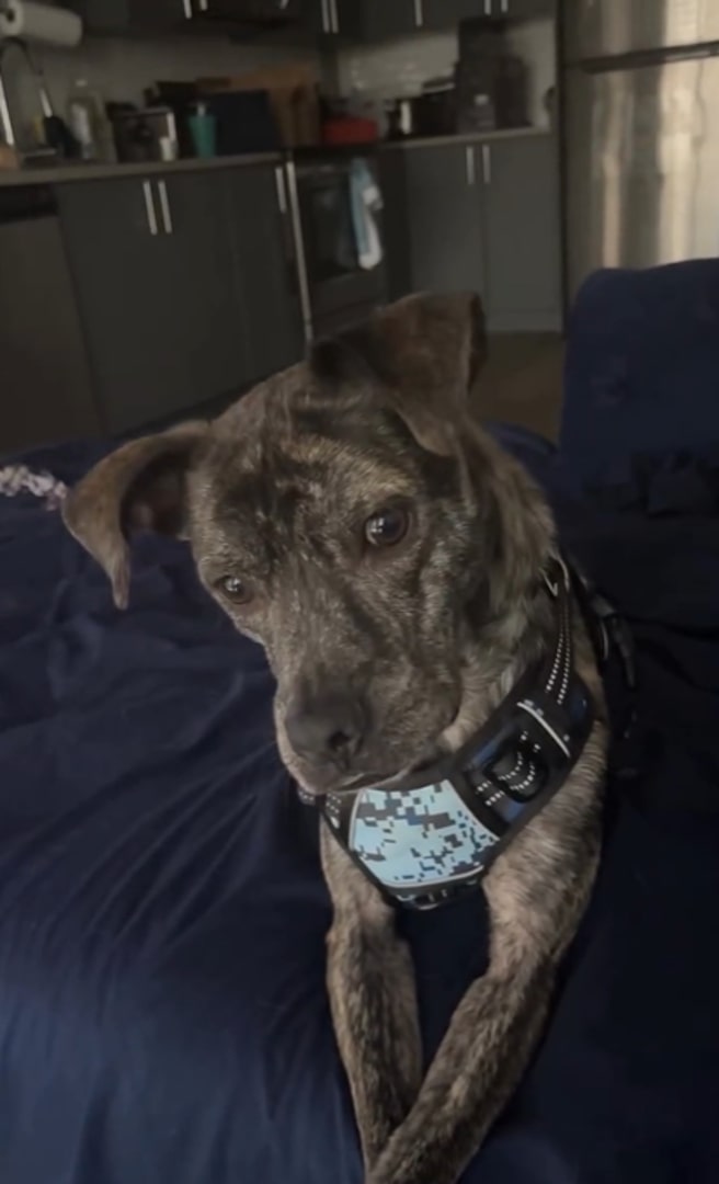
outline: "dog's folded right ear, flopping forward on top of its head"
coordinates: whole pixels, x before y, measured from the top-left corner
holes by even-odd
[[[418,443],[449,456],[486,356],[479,296],[419,294],[319,342],[310,365],[329,381],[379,380]]]

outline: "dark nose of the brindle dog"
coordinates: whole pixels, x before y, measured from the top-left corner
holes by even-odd
[[[347,767],[365,740],[367,710],[359,699],[341,693],[302,697],[289,708],[284,729],[298,757]]]

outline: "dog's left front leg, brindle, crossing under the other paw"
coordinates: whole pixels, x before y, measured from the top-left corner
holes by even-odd
[[[327,938],[332,1018],[370,1170],[419,1092],[415,971],[393,909],[325,823],[322,866],[334,903]]]

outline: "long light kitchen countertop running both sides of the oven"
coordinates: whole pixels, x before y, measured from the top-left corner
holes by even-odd
[[[447,136],[409,136],[406,140],[387,140],[381,143],[353,144],[341,150],[354,149],[358,153],[378,149],[407,152],[412,148],[429,148],[432,146],[454,143],[484,143],[492,140],[513,140],[519,136],[546,136],[551,135],[551,128],[502,128],[497,131],[470,131],[454,133]],[[336,154],[332,147],[298,149],[297,159],[302,160],[326,153],[328,156]],[[237,168],[242,165],[278,165],[287,156],[283,152],[244,153],[239,156],[212,156],[207,159],[192,157],[191,160],[174,161],[146,161],[123,165],[57,165],[47,167],[30,167],[18,169],[0,169],[0,187],[24,186],[24,185],[63,185],[68,181],[108,181],[123,176],[153,176],[162,173],[195,173],[216,168]]]

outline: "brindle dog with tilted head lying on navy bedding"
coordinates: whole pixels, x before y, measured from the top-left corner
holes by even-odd
[[[463,745],[550,645],[547,504],[477,424],[471,295],[407,297],[319,342],[213,423],[134,440],[71,493],[70,530],[130,584],[139,529],[190,541],[200,580],[274,671],[278,748],[306,796],[400,784]],[[321,824],[327,983],[366,1184],[455,1184],[541,1036],[599,855],[606,713],[571,597],[593,718],[559,791],[482,880],[489,960],[423,1075],[396,909]]]

